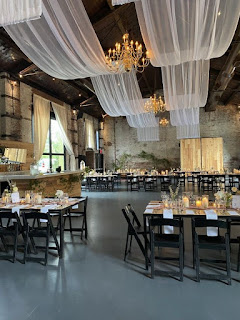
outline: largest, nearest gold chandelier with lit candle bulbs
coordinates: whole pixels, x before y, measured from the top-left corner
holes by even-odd
[[[123,44],[115,44],[115,49],[109,49],[108,54],[105,56],[105,61],[109,69],[113,72],[136,70],[143,72],[144,68],[149,65],[149,53],[146,51],[143,54],[142,45],[137,41],[129,42],[129,34],[123,35]]]

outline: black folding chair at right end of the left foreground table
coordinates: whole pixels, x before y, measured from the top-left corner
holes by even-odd
[[[81,209],[81,204],[83,203],[83,210]],[[64,215],[64,231],[77,231],[81,232],[81,239],[83,238],[83,232],[85,239],[88,237],[88,227],[87,227],[87,204],[88,197],[84,198],[84,201],[80,202],[77,209],[70,209],[66,215]],[[81,228],[76,228],[72,226],[72,218],[83,218]],[[65,228],[66,219],[69,220],[69,228]]]

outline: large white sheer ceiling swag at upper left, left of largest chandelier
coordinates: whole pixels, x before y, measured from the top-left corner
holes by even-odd
[[[82,0],[43,0],[40,19],[5,29],[26,56],[52,77],[77,79],[109,73]]]

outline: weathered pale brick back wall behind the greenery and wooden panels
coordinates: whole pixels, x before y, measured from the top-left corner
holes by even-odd
[[[240,165],[240,114],[236,106],[219,106],[215,112],[200,111],[201,137],[223,137],[224,167]],[[179,140],[172,126],[160,127],[159,142],[138,142],[137,130],[130,128],[124,117],[105,118],[103,138],[106,169],[124,152],[134,156],[131,167],[149,168],[149,163],[136,157],[142,150],[153,153],[158,158],[166,158],[172,166],[180,166]]]

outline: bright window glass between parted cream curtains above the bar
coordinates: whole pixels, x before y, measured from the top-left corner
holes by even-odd
[[[47,172],[50,168],[56,171],[59,166],[62,170],[65,169],[65,148],[60,136],[58,122],[51,118],[45,149],[39,161],[39,171]]]

